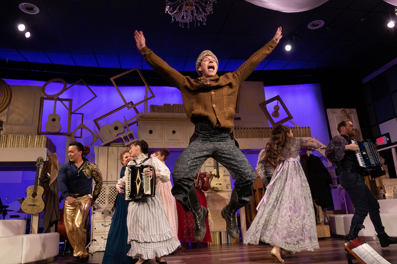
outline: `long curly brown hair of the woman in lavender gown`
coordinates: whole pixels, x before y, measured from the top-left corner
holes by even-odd
[[[285,147],[290,137],[287,133],[291,130],[288,126],[276,125],[271,131],[271,138],[266,144],[265,162],[271,162],[275,165],[279,163],[281,150]]]

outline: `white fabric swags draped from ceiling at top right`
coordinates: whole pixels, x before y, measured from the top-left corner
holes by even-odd
[[[319,7],[328,0],[246,0],[252,4],[285,13],[296,13]],[[384,0],[397,5],[397,0]]]

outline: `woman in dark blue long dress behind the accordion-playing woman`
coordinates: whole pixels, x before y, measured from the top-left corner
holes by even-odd
[[[124,176],[126,165],[131,160],[128,150],[120,154],[120,161],[124,165],[120,172],[120,178]],[[127,256],[131,245],[127,243],[127,213],[128,202],[125,200],[125,194],[119,193],[116,197],[115,211],[112,218],[112,224],[106,242],[106,250],[103,256],[102,264],[132,264],[136,260]]]

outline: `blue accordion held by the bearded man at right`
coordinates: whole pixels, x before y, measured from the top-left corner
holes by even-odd
[[[379,154],[375,150],[371,140],[364,140],[361,142],[351,140],[351,143],[358,145],[358,147],[360,148],[360,151],[356,153],[356,158],[358,161],[358,166],[361,169],[364,169],[366,171],[371,171],[371,170],[384,171],[381,163],[381,159],[379,158]],[[385,175],[385,174],[386,173],[381,175]],[[372,175],[371,173],[371,176],[373,178],[379,177],[381,175]]]

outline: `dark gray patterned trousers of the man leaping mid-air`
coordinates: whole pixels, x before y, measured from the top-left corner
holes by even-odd
[[[172,194],[188,211],[188,192],[194,184],[194,177],[207,158],[221,163],[236,180],[238,202],[244,206],[251,201],[252,186],[256,171],[244,154],[233,144],[227,131],[212,127],[209,123],[196,124],[197,137],[179,156],[172,174]]]

